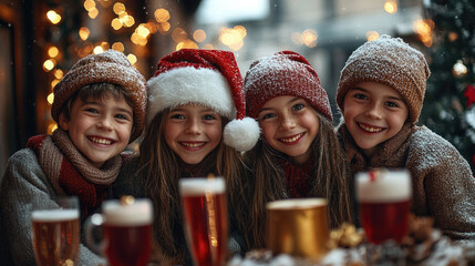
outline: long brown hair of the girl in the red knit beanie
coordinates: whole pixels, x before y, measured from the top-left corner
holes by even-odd
[[[328,200],[330,227],[338,227],[342,222],[352,222],[347,163],[331,122],[318,112],[317,115],[319,132],[310,146],[316,158],[311,173],[314,182],[310,184],[311,196]],[[239,221],[238,226],[248,248],[262,248],[266,245],[266,204],[290,197],[285,172],[277,163],[285,157],[264,139],[245,154],[245,163],[251,171],[241,186],[249,187],[251,195],[245,201],[249,213]]]

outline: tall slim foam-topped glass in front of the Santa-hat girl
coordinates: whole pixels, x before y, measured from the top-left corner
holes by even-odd
[[[223,177],[179,180],[186,241],[196,266],[226,264],[228,216]]]

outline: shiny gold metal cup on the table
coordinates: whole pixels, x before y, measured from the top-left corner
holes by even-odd
[[[324,198],[292,198],[268,203],[267,247],[273,254],[320,259],[328,253],[327,205]]]

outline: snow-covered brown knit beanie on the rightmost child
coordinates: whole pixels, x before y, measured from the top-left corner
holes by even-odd
[[[409,109],[410,122],[415,123],[421,114],[430,75],[424,54],[401,38],[381,35],[365,42],[348,59],[338,83],[337,103],[343,110],[349,89],[359,82],[379,82],[401,94]]]

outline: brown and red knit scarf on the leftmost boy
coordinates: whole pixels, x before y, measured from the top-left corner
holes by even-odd
[[[59,195],[76,195],[81,208],[97,207],[107,196],[109,186],[115,181],[122,165],[121,155],[110,158],[102,168],[94,167],[78,151],[68,133],[58,129],[52,135],[30,137],[32,149],[44,174]]]

